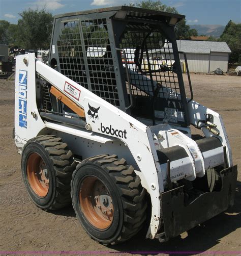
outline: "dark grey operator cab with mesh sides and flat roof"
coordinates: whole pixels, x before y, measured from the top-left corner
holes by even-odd
[[[190,124],[174,25],[121,6],[57,15],[50,66],[143,123]]]

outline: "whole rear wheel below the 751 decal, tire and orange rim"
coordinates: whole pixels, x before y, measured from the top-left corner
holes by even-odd
[[[47,170],[45,177],[48,179],[48,184],[45,184],[45,193],[40,193],[38,190],[43,185],[40,186],[40,183],[35,181],[36,178],[34,182],[30,178],[38,175],[39,169],[35,171],[38,168],[38,161],[44,163]],[[61,138],[42,135],[29,140],[22,151],[21,166],[26,190],[39,208],[57,210],[71,203],[70,183],[76,162]],[[44,183],[41,181],[41,184]]]

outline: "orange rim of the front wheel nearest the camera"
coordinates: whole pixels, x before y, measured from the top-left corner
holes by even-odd
[[[94,176],[86,177],[80,186],[79,203],[85,218],[99,229],[108,228],[114,218],[109,190]]]

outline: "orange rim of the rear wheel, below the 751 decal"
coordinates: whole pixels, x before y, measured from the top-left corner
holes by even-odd
[[[32,153],[27,159],[27,181],[35,194],[45,197],[49,190],[48,169],[38,153]]]

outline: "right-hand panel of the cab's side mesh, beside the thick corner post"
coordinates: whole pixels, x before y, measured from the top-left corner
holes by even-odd
[[[82,21],[91,90],[114,106],[119,106],[115,72],[106,19]]]

